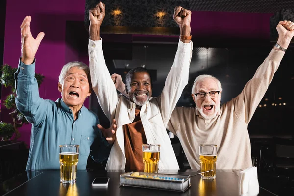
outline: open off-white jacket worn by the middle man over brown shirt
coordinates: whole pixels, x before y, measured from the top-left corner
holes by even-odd
[[[89,39],[88,48],[93,90],[107,118],[111,121],[113,118],[117,120],[116,140],[111,148],[106,169],[124,169],[126,159],[123,125],[133,122],[135,104],[117,94],[103,57],[102,39],[98,41]],[[179,169],[166,126],[188,83],[192,49],[192,42],[179,41],[174,63],[162,93],[157,98],[151,98],[140,111],[147,142],[161,145],[159,169]]]

